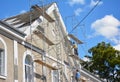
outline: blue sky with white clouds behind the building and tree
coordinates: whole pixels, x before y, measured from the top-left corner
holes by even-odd
[[[30,5],[57,2],[68,32],[93,8],[98,0],[1,0],[0,19],[30,9]],[[120,0],[101,0],[99,5],[72,32],[84,44],[79,45],[79,56],[88,55],[88,49],[105,41],[120,50]]]

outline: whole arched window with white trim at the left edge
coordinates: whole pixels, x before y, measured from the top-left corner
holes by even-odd
[[[6,63],[7,63],[7,49],[6,49],[6,44],[5,41],[0,38],[0,77],[5,77],[7,76],[6,73]]]

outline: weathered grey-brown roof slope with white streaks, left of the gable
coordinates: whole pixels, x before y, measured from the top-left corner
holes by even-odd
[[[8,24],[10,24],[11,26],[19,29],[23,26],[30,24],[30,15],[32,15],[31,22],[33,22],[40,16],[40,14],[37,13],[37,11],[32,10],[32,11],[29,11],[29,12],[26,12],[26,13],[23,13],[23,14],[20,14],[17,16],[13,16],[13,17],[4,19],[3,21],[5,21]]]

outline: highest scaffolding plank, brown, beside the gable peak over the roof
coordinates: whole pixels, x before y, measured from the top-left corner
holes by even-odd
[[[43,9],[42,9],[41,7],[39,7],[38,5],[32,6],[32,8],[40,11],[41,15],[42,15],[43,17],[45,17],[49,22],[54,22],[54,21],[55,21],[52,17],[50,17],[50,16],[45,12],[45,10],[43,10]]]

